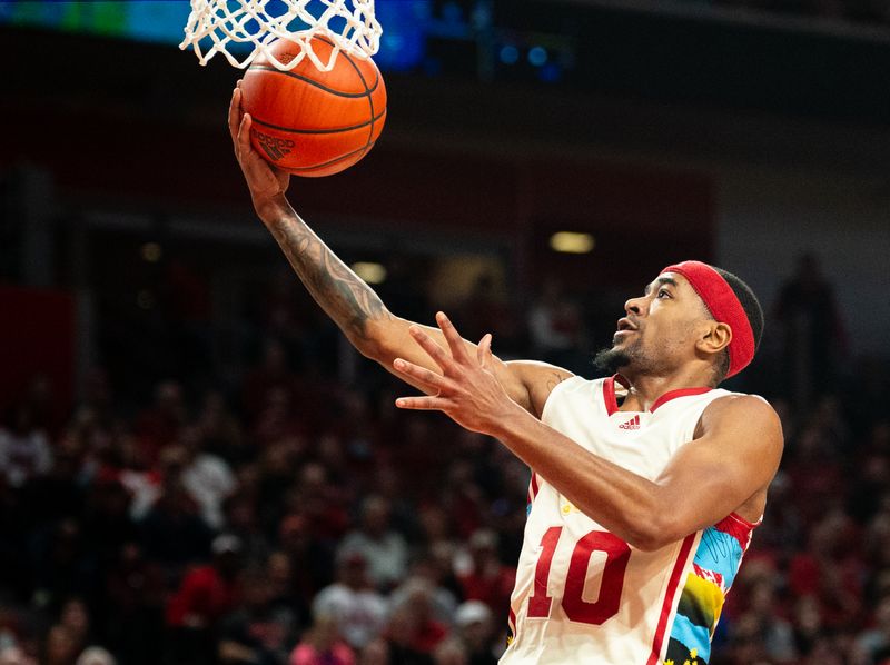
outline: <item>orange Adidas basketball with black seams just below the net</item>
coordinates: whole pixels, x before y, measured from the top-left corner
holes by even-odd
[[[333,43],[314,36],[322,62]],[[271,52],[289,62],[300,47],[278,40]],[[377,66],[340,51],[330,71],[306,57],[290,71],[259,56],[241,81],[243,108],[250,113],[250,141],[269,162],[295,176],[322,177],[343,171],[374,147],[386,120],[386,88]]]

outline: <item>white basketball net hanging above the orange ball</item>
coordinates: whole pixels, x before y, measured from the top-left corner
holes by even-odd
[[[377,52],[383,30],[374,18],[374,0],[190,0],[191,13],[186,24],[188,46],[201,64],[222,53],[233,67],[244,69],[258,54],[278,69],[290,70],[309,58],[320,71],[330,71],[339,51],[369,58]],[[269,4],[285,6],[280,14],[269,13]],[[316,9],[310,12],[308,6]],[[324,7],[323,11],[318,11]],[[327,61],[313,51],[312,39],[323,34],[334,42]],[[296,58],[281,62],[269,52],[271,42],[287,39],[299,46]],[[204,47],[201,42],[204,41]],[[253,49],[250,48],[253,44]],[[209,47],[209,48],[208,48]],[[229,52],[249,52],[239,60]]]

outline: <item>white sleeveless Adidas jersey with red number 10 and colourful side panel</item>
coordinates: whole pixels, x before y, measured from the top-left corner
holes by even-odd
[[[615,378],[560,384],[542,420],[591,453],[654,480],[692,440],[722,389],[690,388],[620,411]],[[705,665],[755,525],[735,514],[655,552],[636,549],[533,473],[501,665]]]

